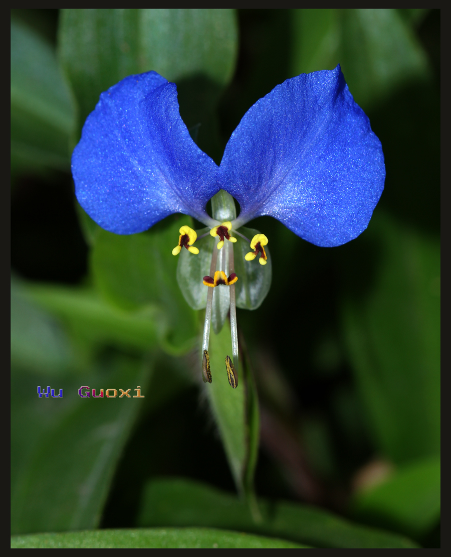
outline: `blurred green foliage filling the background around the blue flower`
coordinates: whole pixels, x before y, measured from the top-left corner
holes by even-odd
[[[437,9],[12,10],[12,534],[439,546],[439,44]],[[338,248],[252,223],[273,277],[237,312],[247,388],[209,392],[171,256],[186,219],[102,231],[73,195],[72,149],[100,92],[156,70],[219,163],[256,100],[337,63],[383,145],[383,196]],[[39,399],[48,384],[64,398]]]

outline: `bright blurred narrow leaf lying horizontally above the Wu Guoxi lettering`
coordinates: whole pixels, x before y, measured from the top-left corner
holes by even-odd
[[[59,317],[74,338],[89,343],[151,350],[167,331],[164,314],[152,304],[126,311],[107,304],[94,290],[29,284],[27,291],[38,305]]]

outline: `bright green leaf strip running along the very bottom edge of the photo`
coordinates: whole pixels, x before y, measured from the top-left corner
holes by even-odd
[[[12,548],[303,548],[286,540],[207,528],[96,530],[12,536]]]

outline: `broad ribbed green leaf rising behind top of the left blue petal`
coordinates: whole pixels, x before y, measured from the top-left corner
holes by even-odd
[[[228,9],[65,9],[59,44],[83,123],[102,91],[150,70],[204,83],[211,108],[234,71],[237,26]]]

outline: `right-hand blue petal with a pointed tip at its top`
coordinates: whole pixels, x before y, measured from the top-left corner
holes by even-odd
[[[384,155],[337,66],[257,101],[227,143],[220,180],[240,203],[238,224],[271,215],[317,246],[339,246],[368,226]]]

